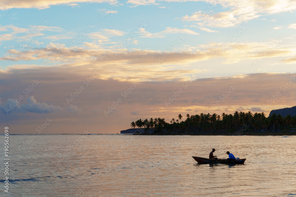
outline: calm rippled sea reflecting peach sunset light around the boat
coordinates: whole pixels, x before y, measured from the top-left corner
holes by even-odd
[[[11,135],[9,142],[10,192],[1,186],[0,196],[296,196],[296,137]],[[198,165],[191,157],[212,148],[219,158],[230,151],[247,160]]]

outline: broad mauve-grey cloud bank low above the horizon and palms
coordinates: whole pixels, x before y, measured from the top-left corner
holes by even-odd
[[[110,69],[110,67],[107,68]],[[108,72],[107,68],[99,70],[99,72],[102,72],[101,75],[111,75],[111,72],[106,73]],[[120,67],[116,69],[120,69]],[[147,67],[147,72],[149,72],[149,69],[151,67]],[[0,89],[4,90],[0,91],[0,96],[2,101],[5,101],[0,104],[0,120],[7,122],[7,124],[13,123],[16,129],[20,130],[20,133],[30,133],[35,131],[36,125],[43,124],[45,118],[49,117],[48,114],[50,114],[55,123],[51,125],[50,130],[45,131],[46,133],[65,133],[65,130],[72,133],[83,133],[83,130],[86,129],[86,122],[87,129],[92,133],[106,133],[106,131],[118,133],[120,130],[129,128],[130,122],[135,121],[135,115],[131,114],[131,109],[134,110],[132,112],[135,112],[135,110],[144,111],[144,116],[148,119],[150,117],[161,117],[169,122],[172,118],[176,119],[180,113],[184,117],[188,112],[200,114],[210,111],[211,114],[221,114],[228,110],[229,112],[226,113],[229,114],[237,109],[246,109],[244,112],[247,112],[247,109],[252,109],[252,107],[260,107],[268,112],[271,109],[295,106],[295,86],[290,85],[285,92],[282,92],[281,86],[289,82],[296,73],[257,73],[200,78],[193,80],[186,89],[182,86],[186,79],[184,81],[176,79],[159,80],[158,82],[142,81],[137,82],[136,88],[126,98],[123,98],[121,93],[131,87],[131,81],[110,78],[102,80],[96,77],[86,86],[83,81],[92,76],[93,72],[92,64],[76,65],[75,67],[58,65],[55,67],[38,67],[35,65],[30,68],[19,68],[15,66],[7,69],[6,72],[0,72]],[[150,75],[150,73],[148,74]],[[138,73],[132,70],[130,73],[132,80],[135,75],[138,75]],[[155,72],[154,75],[155,77],[172,75],[177,78],[178,75],[182,77],[183,73],[179,71],[169,74]],[[6,106],[8,101],[7,98],[18,98],[23,89],[32,83],[32,78],[37,76],[42,87],[36,87],[29,93],[34,94],[34,97],[23,104],[21,104],[21,101],[17,107],[19,109],[13,109],[11,114],[7,115],[5,108],[3,113],[3,107]],[[71,102],[73,106],[68,106],[65,99],[70,98],[70,94],[73,94],[73,91],[81,85],[85,89]],[[231,85],[234,85],[236,89],[222,101],[220,96],[229,91]],[[166,107],[164,102],[168,101],[173,92],[176,92],[179,88],[182,88],[183,92]],[[272,95],[275,95],[278,91],[282,92],[281,96],[270,105],[267,104],[267,100],[273,98]],[[118,98],[121,98],[122,102],[116,107],[116,111],[114,110],[113,114],[105,117],[104,111],[108,110],[108,106],[111,106],[113,101],[117,101]],[[220,105],[213,108],[217,101],[220,101]],[[22,105],[25,105],[26,108],[21,108]],[[264,108],[264,105],[267,105],[267,108]],[[100,110],[96,110],[96,113],[94,113],[94,109]],[[191,109],[192,112],[186,111],[188,109]],[[14,112],[14,110],[16,111]],[[25,110],[24,113],[21,113],[21,110]],[[28,110],[32,112],[28,113]]]

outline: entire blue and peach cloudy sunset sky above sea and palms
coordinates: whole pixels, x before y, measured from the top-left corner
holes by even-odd
[[[0,126],[12,134],[120,133],[138,119],[295,106],[295,0],[0,9]]]

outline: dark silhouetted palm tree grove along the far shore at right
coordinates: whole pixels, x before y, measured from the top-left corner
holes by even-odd
[[[234,114],[186,114],[183,119],[181,114],[176,119],[165,122],[164,118],[150,118],[137,120],[131,123],[132,128],[144,128],[147,133],[153,129],[155,134],[242,134],[253,133],[278,133],[296,130],[296,116],[272,114],[266,117],[264,112],[252,114],[251,112],[234,112]]]

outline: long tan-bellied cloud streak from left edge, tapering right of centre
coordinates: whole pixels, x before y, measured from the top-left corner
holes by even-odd
[[[38,48],[35,50],[17,51],[10,49],[7,51],[7,55],[1,57],[0,60],[37,60],[48,59],[50,61],[56,61],[57,57],[67,51],[67,56],[61,59],[61,62],[68,62],[73,59],[77,62],[85,62],[86,64],[92,62],[92,64],[146,64],[151,67],[152,63],[155,63],[155,59],[159,58],[162,53],[159,51],[126,51],[120,52],[115,56],[114,51],[107,49],[68,49],[66,47],[57,47],[57,45],[48,45],[47,48]],[[206,52],[191,53],[188,51],[182,52],[168,52],[166,58],[161,62],[162,64],[171,64],[178,62],[195,62],[203,59],[212,58],[211,54]],[[102,64],[103,63],[103,64]],[[135,67],[136,68],[136,67]],[[137,68],[138,69],[138,68]]]

